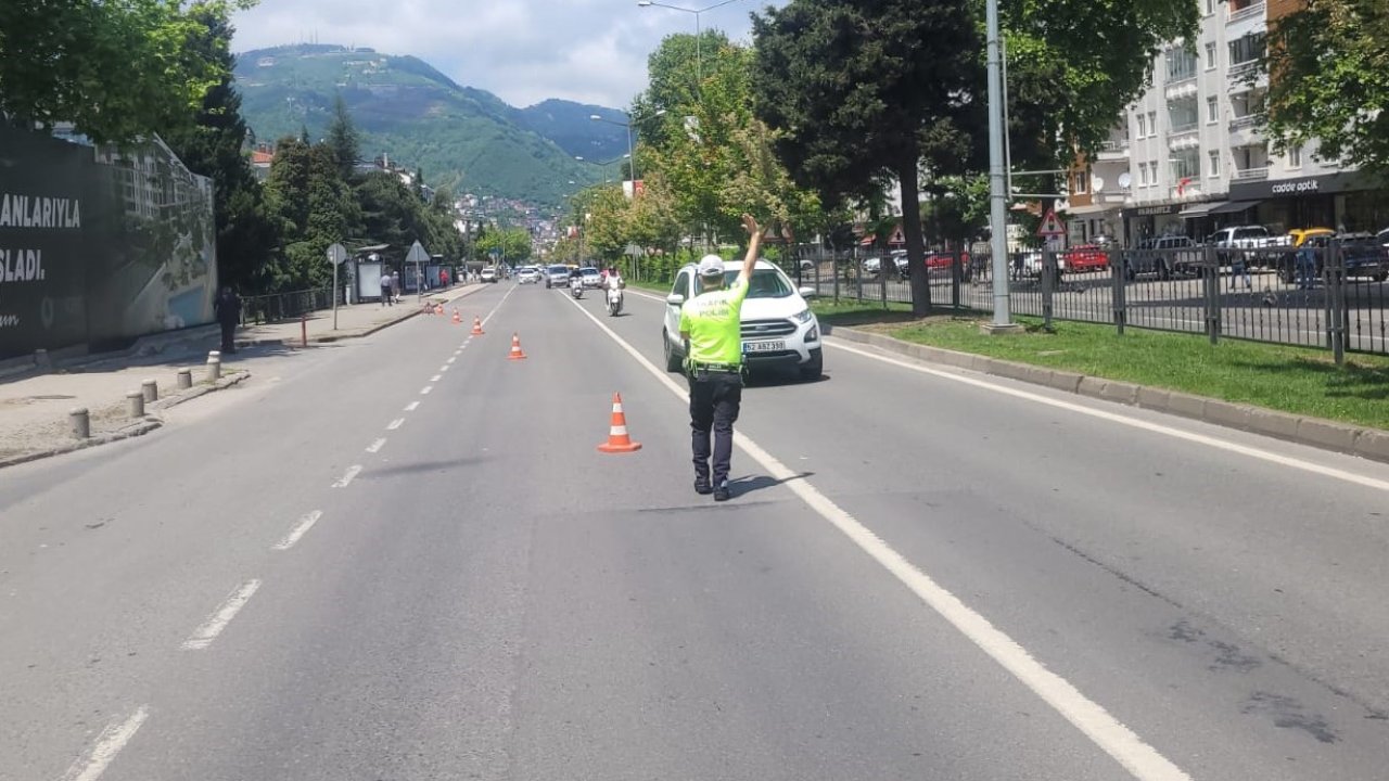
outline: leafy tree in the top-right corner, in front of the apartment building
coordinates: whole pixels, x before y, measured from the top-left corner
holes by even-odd
[[[1389,178],[1389,7],[1317,0],[1268,26],[1274,149],[1315,140],[1318,157]]]

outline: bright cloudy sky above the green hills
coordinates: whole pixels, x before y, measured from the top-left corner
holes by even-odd
[[[764,6],[735,0],[700,22],[746,40],[747,14]],[[233,24],[236,51],[310,40],[371,46],[414,54],[513,106],[563,97],[624,108],[646,86],[647,56],[667,35],[693,33],[694,14],[636,0],[261,0]]]

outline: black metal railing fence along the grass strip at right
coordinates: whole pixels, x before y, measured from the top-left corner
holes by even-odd
[[[818,257],[786,264],[821,297],[911,302],[911,283],[889,258]],[[988,253],[931,253],[931,302],[993,309]],[[1389,249],[1370,240],[1253,249],[1189,247],[1008,257],[1015,314],[1221,338],[1389,354]]]

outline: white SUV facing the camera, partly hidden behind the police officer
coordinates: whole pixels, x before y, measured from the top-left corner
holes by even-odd
[[[725,260],[724,278],[732,283],[742,268],[742,261]],[[685,361],[681,306],[699,292],[699,274],[690,263],[679,270],[671,295],[665,296],[661,342],[667,371],[681,371]],[[750,371],[793,368],[801,379],[820,379],[825,365],[820,346],[820,321],[806,303],[806,296],[813,295],[814,288],[797,290],[781,268],[765,260],[757,261],[742,313],[743,363]]]

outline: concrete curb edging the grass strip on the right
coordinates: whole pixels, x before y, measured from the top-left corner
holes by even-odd
[[[832,328],[831,334],[826,334],[826,336],[843,339],[845,342],[871,345],[890,353],[924,361],[968,368],[981,374],[992,374],[1036,385],[1046,385],[1047,388],[1056,388],[1057,390],[1065,390],[1079,396],[1089,396],[1133,407],[1157,410],[1160,413],[1182,416],[1214,425],[1251,431],[1254,434],[1286,439],[1300,445],[1311,445],[1313,447],[1336,450],[1340,453],[1360,456],[1363,459],[1389,463],[1389,431],[1378,428],[1365,428],[1324,418],[1295,416],[1292,413],[1282,413],[1251,404],[1236,404],[1221,399],[1192,396],[1190,393],[1182,393],[1179,390],[1150,388],[1146,385],[1135,385],[1132,382],[1086,377],[1070,371],[990,359],[986,356],[976,356],[974,353],[931,347],[926,345],[903,342],[901,339],[895,339],[883,334],[854,331],[853,328],[845,327]]]

